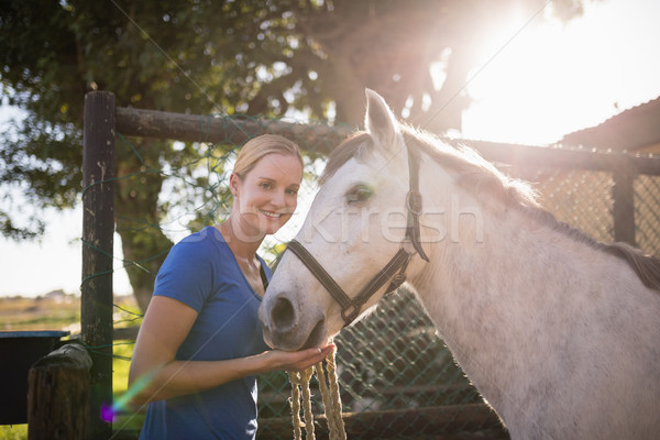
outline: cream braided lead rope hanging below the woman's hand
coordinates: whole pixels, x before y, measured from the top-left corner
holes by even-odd
[[[323,371],[323,361],[319,362],[316,367],[301,372],[287,372],[292,383],[292,422],[294,425],[294,439],[301,440],[301,427],[305,427],[306,440],[315,440],[314,432],[314,414],[311,413],[311,396],[309,392],[309,381],[316,371],[321,397],[323,398],[323,407],[326,419],[328,420],[328,430],[330,440],[345,440],[346,432],[344,422],[341,417],[341,398],[339,396],[339,382],[337,380],[337,369],[334,354],[337,349],[333,349],[326,356],[326,369]],[[300,402],[302,398],[302,402]],[[305,422],[300,420],[300,404],[302,404],[302,417]]]

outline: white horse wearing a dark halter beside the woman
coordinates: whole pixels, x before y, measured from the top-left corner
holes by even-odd
[[[512,438],[660,438],[658,261],[558,222],[527,185],[366,96],[366,132],[331,154],[267,288],[266,342],[323,344],[405,272]]]

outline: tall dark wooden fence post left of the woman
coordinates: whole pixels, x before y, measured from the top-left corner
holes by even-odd
[[[114,95],[85,96],[82,153],[82,284],[80,332],[90,348],[89,437],[109,439],[112,406],[112,245],[114,233]]]

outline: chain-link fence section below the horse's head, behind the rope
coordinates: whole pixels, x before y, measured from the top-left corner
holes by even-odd
[[[336,342],[343,411],[352,414],[346,420],[350,439],[475,431],[506,438],[411,293],[391,294],[372,315],[342,330]],[[315,380],[310,387],[314,411],[322,414]],[[283,427],[277,420],[290,419],[289,396],[285,375],[260,378],[260,438],[290,432],[290,422]],[[317,436],[326,438],[324,421],[315,422]]]

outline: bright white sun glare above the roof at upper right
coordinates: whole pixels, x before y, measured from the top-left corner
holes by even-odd
[[[622,14],[636,16],[630,21],[645,23],[631,4],[612,1]],[[651,81],[660,92],[648,68],[635,68],[648,62],[634,50],[645,36],[626,33],[624,18],[602,12],[587,4],[584,16],[563,25],[535,21],[516,28],[525,25],[518,19],[488,38],[468,86],[475,102],[463,114],[464,136],[550,144],[640,103],[636,99],[652,99]]]

